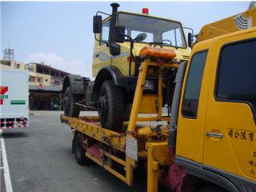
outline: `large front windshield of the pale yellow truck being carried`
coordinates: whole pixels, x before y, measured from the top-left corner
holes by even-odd
[[[126,34],[131,38],[136,38],[138,34],[145,33],[146,38],[142,42],[155,42],[163,46],[186,48],[182,26],[179,22],[119,13],[118,26],[125,26]]]

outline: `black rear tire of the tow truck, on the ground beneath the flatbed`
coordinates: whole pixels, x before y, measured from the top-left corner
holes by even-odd
[[[90,158],[86,157],[86,149],[82,141],[82,134],[76,134],[74,140],[74,154],[80,166],[88,166],[91,164]]]

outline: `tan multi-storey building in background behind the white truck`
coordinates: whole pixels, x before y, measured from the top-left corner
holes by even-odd
[[[29,70],[30,110],[62,110],[65,71],[44,63],[24,64],[11,59],[1,59],[0,70]]]

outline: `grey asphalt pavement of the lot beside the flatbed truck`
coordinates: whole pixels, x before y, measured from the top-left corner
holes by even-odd
[[[70,127],[60,122],[60,112],[32,114],[29,128],[3,130],[14,192],[146,191],[146,173],[135,173],[130,187],[96,164],[79,166],[71,154]]]

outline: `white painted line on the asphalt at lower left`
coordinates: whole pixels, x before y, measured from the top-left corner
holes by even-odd
[[[0,140],[2,144],[2,162],[3,162],[3,170],[4,170],[3,176],[6,182],[6,192],[13,192],[13,186],[11,185],[11,180],[10,180],[10,170],[9,170],[7,155],[6,155],[6,146],[5,146],[5,141],[3,140],[3,137],[2,137],[1,129],[0,129]]]

